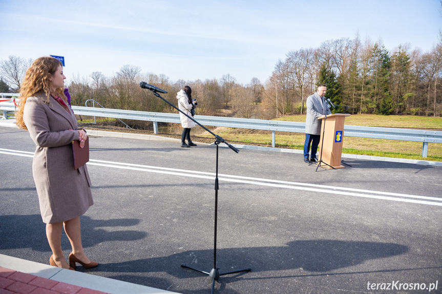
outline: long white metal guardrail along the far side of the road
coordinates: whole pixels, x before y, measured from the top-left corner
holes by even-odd
[[[3,110],[3,119],[8,118],[8,113],[15,111],[13,97],[18,94],[0,93],[0,110]],[[9,98],[8,98],[9,97]],[[9,101],[3,101],[9,100]],[[2,102],[3,101],[3,102]],[[179,114],[167,114],[163,112],[134,111],[98,107],[72,106],[76,115],[116,118],[126,120],[151,121],[154,125],[154,133],[158,134],[158,122],[181,123]],[[230,128],[258,129],[271,131],[271,145],[275,147],[275,133],[280,132],[305,132],[305,123],[285,122],[256,119],[195,116],[200,124],[205,126],[222,126]],[[423,142],[422,157],[427,157],[428,143],[442,143],[442,131],[366,127],[344,125],[344,135],[348,137],[402,140],[412,142]]]

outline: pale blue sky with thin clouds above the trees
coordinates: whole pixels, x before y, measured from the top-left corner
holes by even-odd
[[[439,8],[439,0],[0,0],[0,59],[65,56],[68,82],[124,64],[171,81],[265,82],[289,51],[358,31],[388,50],[407,42],[430,50]]]

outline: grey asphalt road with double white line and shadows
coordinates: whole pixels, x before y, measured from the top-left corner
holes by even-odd
[[[214,267],[216,147],[104,137],[90,146],[95,204],[82,238],[100,265],[77,269],[209,293],[210,278],[180,265]],[[302,154],[224,146],[216,265],[251,272],[221,276],[216,293],[442,292],[442,167],[346,160],[352,167],[315,172]],[[48,263],[34,149],[27,131],[0,127],[0,253]],[[62,246],[68,256],[65,235]]]

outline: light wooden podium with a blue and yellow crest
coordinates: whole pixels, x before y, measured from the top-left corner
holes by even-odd
[[[325,119],[325,116],[318,118],[322,120],[321,141],[319,142],[318,154],[321,156],[322,151],[322,161],[325,163],[320,163],[320,167],[329,169],[331,169],[331,167],[335,169],[344,168],[344,166],[341,165],[342,139],[344,136],[344,120],[345,117],[349,116],[349,114],[334,114],[328,115],[327,119]],[[324,141],[324,143],[322,141]]]

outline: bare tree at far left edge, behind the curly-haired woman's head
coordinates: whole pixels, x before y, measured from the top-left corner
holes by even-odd
[[[18,92],[26,70],[31,65],[32,59],[25,60],[22,57],[9,55],[7,60],[0,62],[0,75],[11,87],[13,92]]]

